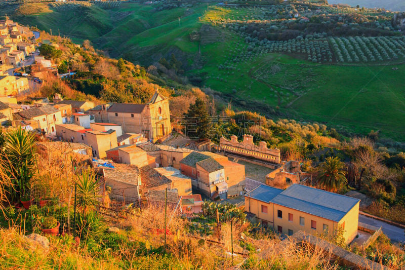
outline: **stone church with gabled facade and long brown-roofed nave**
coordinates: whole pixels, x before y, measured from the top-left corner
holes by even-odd
[[[141,133],[152,142],[172,132],[169,99],[155,92],[147,104],[112,103],[90,110],[97,122],[121,125],[124,133]]]

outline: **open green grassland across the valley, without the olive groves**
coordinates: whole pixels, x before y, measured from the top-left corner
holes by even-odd
[[[13,19],[52,29],[54,34],[59,28],[61,35],[73,41],[89,39],[112,57],[142,65],[175,53],[189,64],[187,75],[203,74],[204,86],[226,94],[225,102],[239,100],[240,108],[266,104],[300,121],[317,121],[362,134],[380,130],[382,136],[405,140],[405,65],[390,61],[373,66],[318,64],[299,55],[249,51],[243,37],[217,22],[224,18],[261,19],[252,8],[210,7],[208,13],[206,4],[158,12],[154,8],[136,3],[110,9],[96,5],[64,10],[50,7]],[[189,39],[189,33],[198,29],[200,44]],[[196,57],[204,59],[202,68],[192,67]]]

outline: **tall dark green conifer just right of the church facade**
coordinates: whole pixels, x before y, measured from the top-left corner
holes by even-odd
[[[210,131],[210,121],[208,117],[207,105],[201,98],[196,98],[184,114],[186,135],[203,140],[208,138]]]

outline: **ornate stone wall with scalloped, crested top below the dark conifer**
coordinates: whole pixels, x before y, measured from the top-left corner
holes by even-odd
[[[245,156],[274,164],[281,163],[279,149],[267,148],[267,143],[265,141],[259,142],[259,146],[257,146],[253,142],[252,135],[244,134],[243,137],[244,140],[241,142],[238,142],[237,136],[235,135],[232,135],[230,140],[221,137],[219,141],[219,146],[221,150],[229,153],[234,153],[235,155],[238,156]]]

